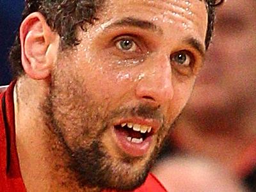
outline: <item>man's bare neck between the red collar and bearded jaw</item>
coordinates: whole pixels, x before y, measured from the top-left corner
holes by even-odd
[[[24,77],[15,86],[17,152],[27,191],[99,191],[81,188],[67,168],[69,156],[42,110],[47,94],[49,85],[44,81]]]

